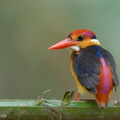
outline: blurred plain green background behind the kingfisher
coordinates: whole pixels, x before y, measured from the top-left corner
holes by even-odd
[[[44,97],[61,99],[76,89],[68,50],[47,48],[82,28],[113,54],[120,77],[119,0],[0,0],[0,98],[37,98],[52,89]],[[111,99],[119,98],[118,88]]]

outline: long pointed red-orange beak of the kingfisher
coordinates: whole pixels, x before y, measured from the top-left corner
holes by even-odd
[[[66,38],[65,40],[62,40],[52,45],[48,49],[63,49],[63,48],[67,48],[67,47],[74,46],[74,45],[76,45],[76,42],[72,41],[70,38]]]

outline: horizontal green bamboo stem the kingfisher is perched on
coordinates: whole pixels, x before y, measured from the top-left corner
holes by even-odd
[[[39,103],[39,104],[38,104]],[[0,120],[119,120],[119,102],[110,101],[99,108],[94,100],[71,101],[62,106],[60,100],[0,100]]]

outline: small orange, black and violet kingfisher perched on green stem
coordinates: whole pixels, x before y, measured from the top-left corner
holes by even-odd
[[[116,62],[113,55],[103,47],[96,34],[87,29],[77,29],[48,49],[68,48],[72,51],[70,69],[80,95],[91,93],[98,107],[108,107],[113,88],[119,86]]]

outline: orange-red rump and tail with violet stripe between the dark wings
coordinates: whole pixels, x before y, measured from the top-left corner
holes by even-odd
[[[100,58],[102,67],[100,74],[100,83],[97,86],[97,94],[95,95],[99,107],[107,107],[109,97],[113,89],[113,80],[111,69],[106,65],[104,58]]]

